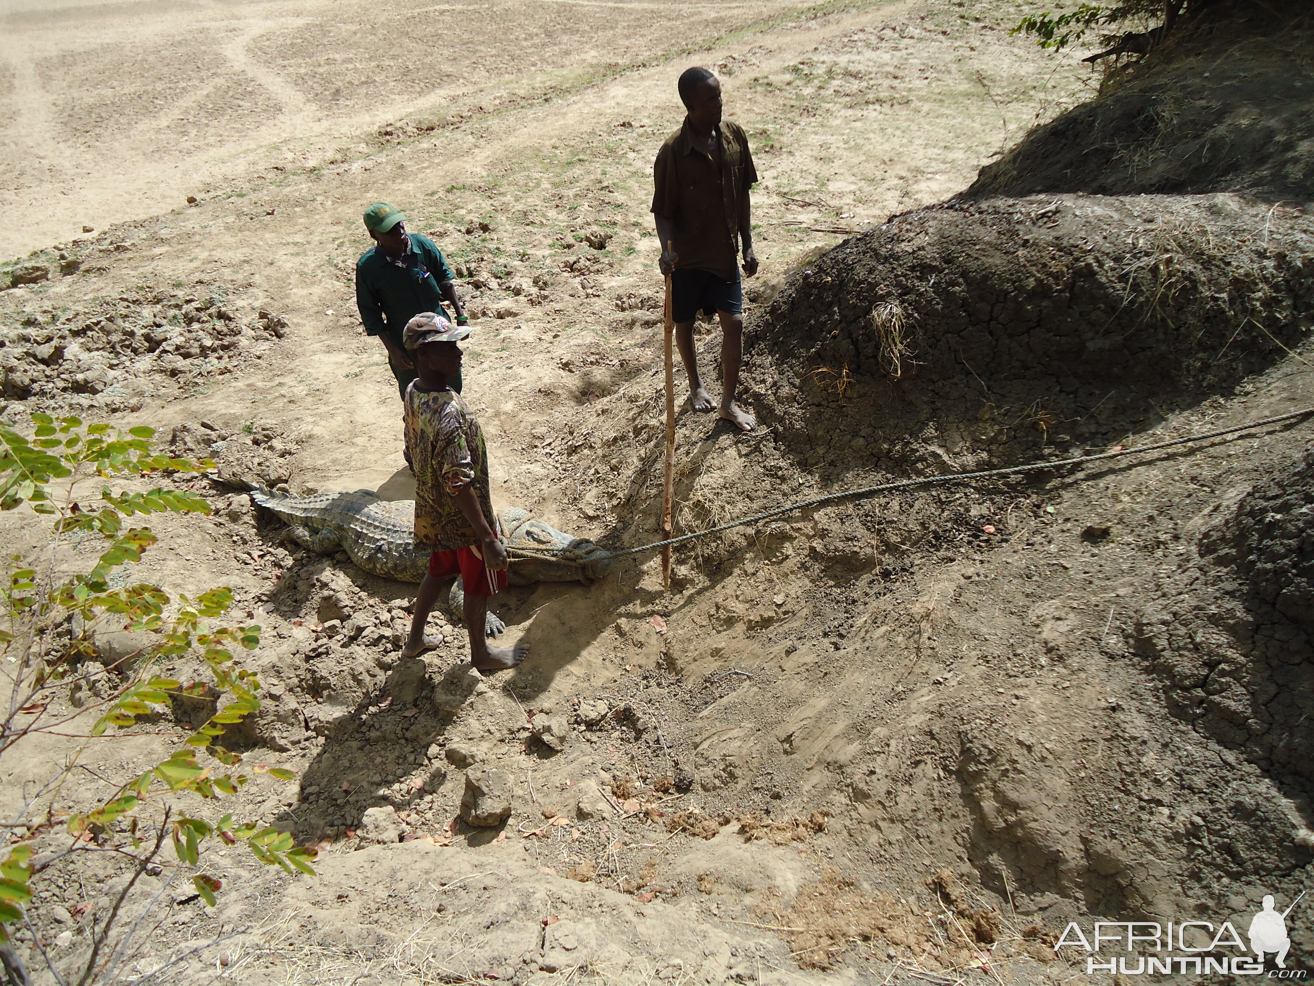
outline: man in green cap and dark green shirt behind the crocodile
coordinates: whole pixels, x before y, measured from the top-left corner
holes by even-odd
[[[365,209],[365,229],[374,246],[356,262],[356,308],[365,335],[377,335],[388,350],[388,367],[397,377],[397,389],[406,400],[406,388],[418,373],[402,330],[422,312],[442,312],[445,301],[457,325],[468,325],[456,297],[456,275],[434,241],[406,231],[406,217],[388,202]],[[461,375],[447,381],[461,392]]]

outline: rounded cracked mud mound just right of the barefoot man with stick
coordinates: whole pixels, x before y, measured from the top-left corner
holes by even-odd
[[[1311,316],[1314,223],[1294,213],[1235,196],[949,202],[798,272],[756,326],[749,387],[809,465],[971,468],[1227,390]]]

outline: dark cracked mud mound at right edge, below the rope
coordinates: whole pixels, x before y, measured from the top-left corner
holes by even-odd
[[[1217,511],[1147,606],[1139,649],[1173,714],[1293,798],[1314,793],[1314,452]]]

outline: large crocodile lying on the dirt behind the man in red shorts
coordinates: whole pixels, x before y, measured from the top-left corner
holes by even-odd
[[[360,568],[399,582],[418,582],[428,569],[430,550],[414,540],[414,500],[384,500],[372,489],[293,497],[252,489],[251,502],[288,525],[285,538],[319,555],[346,551]],[[507,507],[498,518],[498,534],[511,555],[511,585],[533,582],[589,582],[611,569],[611,555],[590,540],[573,538],[528,510]],[[448,605],[460,614],[465,602],[461,580],[452,582]],[[485,627],[498,636],[506,624],[493,613]]]

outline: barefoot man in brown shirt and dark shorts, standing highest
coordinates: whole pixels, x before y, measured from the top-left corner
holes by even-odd
[[[656,195],[652,212],[662,242],[661,270],[671,279],[675,343],[689,373],[694,410],[716,404],[698,375],[694,319],[699,309],[721,321],[720,415],[742,431],[757,419],[735,402],[744,355],[744,291],[737,246],[742,245],[744,275],[757,273],[749,188],[757,181],[744,129],[721,121],[721,84],[706,68],[679,76],[679,99],[689,110],[653,164]]]

